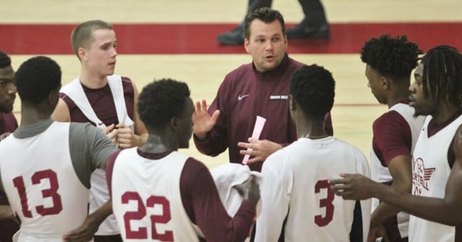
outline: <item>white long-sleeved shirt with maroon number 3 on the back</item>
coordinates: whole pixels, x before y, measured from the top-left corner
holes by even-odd
[[[356,201],[335,196],[328,180],[339,173],[370,177],[365,156],[355,147],[332,136],[299,138],[273,155],[262,168],[262,213],[255,241],[350,241]],[[365,241],[370,224],[370,199],[358,202]],[[285,225],[283,225],[285,222]]]

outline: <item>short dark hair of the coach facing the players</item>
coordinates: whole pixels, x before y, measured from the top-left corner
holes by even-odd
[[[278,10],[274,10],[271,8],[258,8],[251,12],[248,12],[244,20],[244,36],[246,37],[246,39],[250,38],[250,25],[255,19],[261,20],[262,22],[265,22],[267,24],[269,24],[270,22],[274,22],[274,20],[279,20],[279,24],[281,24],[282,34],[283,36],[286,35],[286,24],[284,23],[284,18]]]

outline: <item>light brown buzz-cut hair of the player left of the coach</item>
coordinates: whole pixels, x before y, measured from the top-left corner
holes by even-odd
[[[109,22],[103,20],[89,20],[78,24],[71,34],[71,45],[73,52],[78,57],[78,48],[89,48],[89,43],[93,40],[93,32],[98,29],[113,29]],[[80,59],[80,58],[79,58]]]

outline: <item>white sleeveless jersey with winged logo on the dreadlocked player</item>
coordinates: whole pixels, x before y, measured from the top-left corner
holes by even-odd
[[[414,149],[412,159],[412,194],[422,197],[444,198],[447,179],[451,167],[447,160],[447,152],[452,138],[462,124],[459,116],[446,127],[428,137],[428,116]],[[430,222],[411,215],[409,219],[409,241],[454,241],[454,226]]]

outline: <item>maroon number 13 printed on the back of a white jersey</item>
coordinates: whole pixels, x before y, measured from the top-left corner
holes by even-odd
[[[50,188],[42,190],[42,197],[43,199],[51,197],[53,201],[53,206],[49,208],[45,208],[43,205],[36,206],[36,211],[38,214],[42,216],[58,214],[62,211],[62,202],[61,196],[59,195],[59,193],[57,193],[59,185],[57,182],[56,172],[52,171],[51,169],[37,171],[31,177],[32,185],[41,183],[41,180],[43,179],[50,180]],[[24,214],[26,218],[32,218],[32,212],[29,210],[29,206],[27,206],[26,186],[24,184],[24,179],[22,178],[22,176],[15,177],[13,179],[13,185],[15,185],[20,195],[22,214]]]

